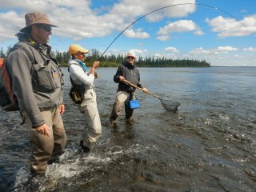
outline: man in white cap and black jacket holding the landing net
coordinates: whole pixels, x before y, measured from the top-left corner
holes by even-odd
[[[132,84],[143,89],[144,92],[148,92],[146,88],[143,88],[140,84],[140,74],[137,67],[134,65],[136,55],[134,51],[130,50],[127,53],[126,62],[122,63],[118,67],[116,74],[114,75],[114,82],[118,83],[118,93],[115,98],[113,110],[110,114],[110,124],[116,123],[116,119],[122,113],[122,106],[125,103],[126,122],[133,121],[134,110],[130,108],[130,100],[134,96],[136,90],[133,86],[129,86],[124,80],[131,82]]]

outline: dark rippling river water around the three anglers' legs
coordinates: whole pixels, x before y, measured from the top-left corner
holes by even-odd
[[[256,67],[139,68],[143,86],[181,106],[167,112],[137,91],[134,124],[123,111],[117,127],[106,124],[116,68],[98,69],[102,137],[87,155],[78,153],[84,119],[62,70],[65,153],[46,177],[31,178],[28,131],[18,113],[0,110],[0,191],[256,191]]]

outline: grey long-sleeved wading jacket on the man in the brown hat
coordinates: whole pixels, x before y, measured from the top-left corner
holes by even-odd
[[[22,42],[18,44],[27,46],[26,49],[31,50],[35,61],[31,62],[22,49],[10,50],[7,68],[12,78],[12,89],[18,99],[18,108],[29,115],[32,126],[42,126],[46,122],[42,118],[41,110],[63,102],[62,72],[48,54],[50,46],[37,44],[35,47],[30,45],[28,39],[19,37],[20,39]]]

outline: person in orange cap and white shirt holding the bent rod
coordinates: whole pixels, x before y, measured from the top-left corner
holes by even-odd
[[[96,69],[100,62],[95,61],[92,69],[87,69],[85,60],[89,50],[80,45],[70,46],[72,60],[69,62],[70,81],[72,85],[78,85],[82,91],[83,99],[78,104],[79,110],[84,114],[86,126],[82,131],[80,140],[80,151],[89,153],[95,142],[102,134],[102,124],[98,114],[96,92],[94,90],[94,80],[97,78]]]

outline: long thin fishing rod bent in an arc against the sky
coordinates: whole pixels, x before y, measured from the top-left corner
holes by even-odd
[[[226,11],[224,10],[221,10],[219,9],[218,7],[216,6],[208,6],[208,5],[205,5],[205,4],[201,4],[201,3],[192,3],[192,2],[187,2],[187,3],[180,3],[180,4],[174,4],[174,5],[170,5],[170,6],[163,6],[162,8],[159,8],[157,10],[152,10],[150,11],[150,13],[148,14],[144,14],[142,17],[138,18],[136,21],[130,23],[129,26],[127,26],[124,30],[122,30],[122,32],[120,34],[118,34],[118,36],[116,38],[114,38],[114,40],[110,43],[110,45],[108,47],[106,47],[106,50],[108,50],[110,48],[110,46],[112,46],[112,44],[115,42],[115,40],[117,40],[120,35],[125,32],[130,26],[134,25],[135,22],[138,22],[139,20],[141,20],[142,18],[145,18],[147,15],[149,14],[153,14],[154,12],[157,12],[158,10],[163,10],[163,9],[166,9],[168,7],[171,7],[171,6],[184,6],[184,5],[197,5],[197,6],[206,6],[208,8],[211,8],[211,9],[214,9],[214,10],[219,10],[220,12],[230,16],[231,18],[234,18],[235,20],[237,20],[238,22],[240,22],[242,24],[242,26],[245,26],[241,21],[238,20],[238,18],[235,18],[232,14],[229,14],[227,13]],[[246,26],[245,26],[246,27]],[[106,50],[103,52],[102,56],[106,53]],[[98,60],[101,60],[102,56],[98,59]]]

